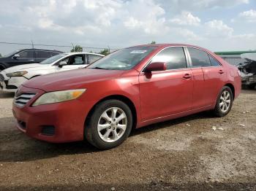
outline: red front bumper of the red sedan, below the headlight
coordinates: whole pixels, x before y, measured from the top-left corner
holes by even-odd
[[[37,93],[37,95],[23,107],[12,105],[12,112],[17,120],[16,127],[19,130],[34,139],[53,143],[83,140],[88,112],[82,101],[77,99],[33,107],[31,104],[45,92],[23,86],[20,87],[20,91]],[[45,133],[46,128],[48,132]]]

